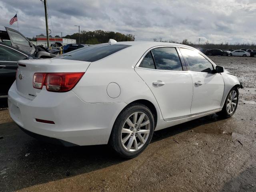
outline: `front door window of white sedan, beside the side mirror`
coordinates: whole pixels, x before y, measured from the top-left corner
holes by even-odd
[[[212,64],[198,52],[186,48],[180,48],[180,52],[188,61],[190,71],[212,72]]]

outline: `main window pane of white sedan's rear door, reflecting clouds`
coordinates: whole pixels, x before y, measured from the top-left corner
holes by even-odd
[[[179,55],[174,47],[161,47],[152,50],[156,69],[182,71]]]

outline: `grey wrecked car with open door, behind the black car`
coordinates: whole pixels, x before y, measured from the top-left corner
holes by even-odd
[[[9,40],[9,42],[11,42],[11,45],[15,48],[18,48],[21,51],[24,51],[37,58],[56,57],[56,54],[53,54],[54,50],[52,50],[52,52],[49,52],[44,47],[35,46],[34,44],[32,44],[32,42],[30,42],[20,32],[8,27],[5,27],[5,29],[6,31],[0,31],[0,42],[4,42],[4,40]]]

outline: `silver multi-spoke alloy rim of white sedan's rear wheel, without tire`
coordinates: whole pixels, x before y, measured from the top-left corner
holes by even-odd
[[[122,147],[128,152],[136,152],[142,148],[150,135],[150,126],[150,118],[146,113],[131,114],[122,126]]]

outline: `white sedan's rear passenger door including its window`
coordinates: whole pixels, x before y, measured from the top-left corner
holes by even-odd
[[[192,78],[182,62],[175,47],[159,47],[150,50],[135,67],[154,94],[166,121],[190,115]]]

